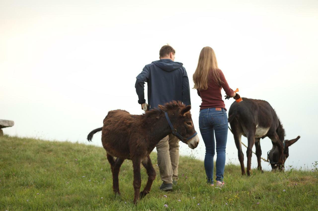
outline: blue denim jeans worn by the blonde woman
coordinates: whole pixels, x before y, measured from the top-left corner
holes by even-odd
[[[202,109],[199,114],[199,128],[205,144],[204,168],[207,182],[213,184],[213,158],[215,155],[214,134],[217,149],[216,180],[222,182],[224,177],[225,148],[228,131],[226,110],[224,108]]]

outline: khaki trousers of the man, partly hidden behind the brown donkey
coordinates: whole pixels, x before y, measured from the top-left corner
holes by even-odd
[[[172,184],[173,180],[178,180],[179,139],[169,134],[159,141],[156,149],[161,180]]]

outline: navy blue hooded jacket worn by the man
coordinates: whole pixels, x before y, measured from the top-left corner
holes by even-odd
[[[150,109],[172,100],[191,105],[189,79],[182,65],[180,62],[170,59],[161,59],[146,65],[136,77],[135,88],[139,98],[138,103],[146,102],[144,87],[147,82]]]

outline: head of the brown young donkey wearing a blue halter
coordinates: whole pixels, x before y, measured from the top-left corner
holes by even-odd
[[[171,128],[173,135],[178,137],[183,143],[188,144],[191,149],[194,149],[199,144],[199,137],[194,129],[191,118],[191,105],[183,105],[181,102],[172,101],[158,107],[165,112],[167,123]]]

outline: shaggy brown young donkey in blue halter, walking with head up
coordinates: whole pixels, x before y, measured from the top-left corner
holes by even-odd
[[[104,119],[104,126],[91,131],[87,136],[87,140],[91,141],[94,133],[102,131],[101,140],[113,173],[115,194],[120,194],[118,174],[121,164],[125,159],[132,160],[134,203],[149,193],[152,182],[155,180],[156,172],[149,154],[162,138],[172,133],[183,143],[188,144],[191,149],[196,148],[199,143],[190,114],[191,105],[185,106],[180,102],[172,101],[158,107],[160,109],[146,111],[142,115],[132,115],[124,110],[110,111]],[[117,158],[114,159],[114,157]],[[148,182],[139,193],[141,163],[147,171]]]

